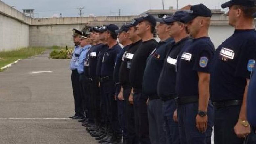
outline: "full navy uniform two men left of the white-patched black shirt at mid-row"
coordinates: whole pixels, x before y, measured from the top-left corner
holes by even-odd
[[[101,66],[101,80],[102,95],[105,98],[106,111],[107,111],[107,123],[110,125],[114,134],[119,134],[119,124],[117,117],[117,101],[115,96],[115,84],[113,81],[113,71],[117,54],[120,52],[121,47],[119,44],[114,45],[105,51],[102,58]]]

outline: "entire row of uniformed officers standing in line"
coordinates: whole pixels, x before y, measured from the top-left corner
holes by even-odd
[[[235,31],[216,50],[203,4],[73,29],[70,118],[102,144],[256,144],[256,2],[221,6]]]

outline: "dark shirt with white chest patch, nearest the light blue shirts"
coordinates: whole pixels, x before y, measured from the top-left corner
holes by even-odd
[[[98,62],[98,54],[100,49],[102,48],[102,44],[94,45],[89,52],[89,76],[95,77],[96,76],[96,68]]]

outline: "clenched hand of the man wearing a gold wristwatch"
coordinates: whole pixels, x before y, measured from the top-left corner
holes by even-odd
[[[235,133],[239,138],[245,138],[247,135],[251,133],[251,126],[243,126],[241,123],[237,122],[234,127]]]

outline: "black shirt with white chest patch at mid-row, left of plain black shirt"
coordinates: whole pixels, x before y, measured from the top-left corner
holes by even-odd
[[[139,40],[139,41],[131,44],[129,49],[127,50],[127,52],[125,54],[124,60],[122,61],[122,64],[121,64],[121,67],[120,67],[120,72],[119,72],[119,77],[120,77],[121,85],[124,88],[130,88],[131,87],[130,86],[131,84],[130,84],[130,81],[129,81],[129,73],[130,73],[130,69],[131,69],[131,63],[132,63],[134,53],[139,48],[141,43],[142,43],[142,41]]]

